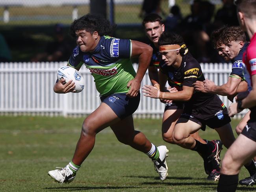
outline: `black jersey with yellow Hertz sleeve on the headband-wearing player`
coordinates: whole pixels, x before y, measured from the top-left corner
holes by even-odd
[[[204,74],[198,61],[187,53],[182,57],[182,62],[179,68],[175,69],[173,66],[160,64],[160,70],[168,76],[168,83],[171,87],[176,87],[179,91],[182,86],[194,87],[192,84],[196,81],[204,81]],[[200,107],[207,103],[214,94],[194,92],[193,96],[185,105],[192,105],[192,107]]]

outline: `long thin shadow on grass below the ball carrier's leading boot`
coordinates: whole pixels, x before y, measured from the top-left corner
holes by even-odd
[[[45,190],[67,190],[67,191],[80,191],[80,190],[91,190],[91,189],[128,189],[128,188],[139,188],[138,186],[67,186],[67,187],[46,187]]]

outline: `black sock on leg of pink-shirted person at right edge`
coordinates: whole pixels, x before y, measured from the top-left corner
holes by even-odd
[[[219,177],[217,192],[235,192],[238,184],[237,175],[224,175]]]

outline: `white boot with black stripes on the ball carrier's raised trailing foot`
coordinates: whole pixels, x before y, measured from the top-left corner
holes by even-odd
[[[157,161],[153,161],[154,165],[155,165],[155,170],[156,172],[159,173],[160,179],[161,181],[164,181],[166,179],[166,177],[168,176],[168,166],[166,163],[166,157],[167,152],[169,152],[169,150],[167,150],[166,146],[159,146],[157,147],[158,151],[159,151],[159,158]]]

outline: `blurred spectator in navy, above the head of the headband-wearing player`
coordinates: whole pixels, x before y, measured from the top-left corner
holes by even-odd
[[[180,7],[174,5],[170,9],[170,14],[165,18],[165,30],[166,31],[178,31],[178,25],[182,21],[182,14]]]

